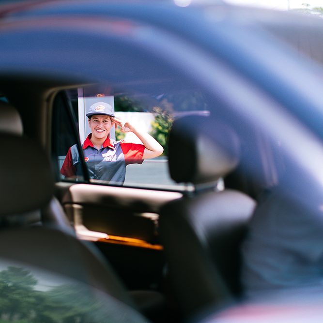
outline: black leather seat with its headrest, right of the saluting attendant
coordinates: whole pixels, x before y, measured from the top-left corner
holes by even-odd
[[[175,120],[169,133],[169,173],[195,191],[166,204],[159,232],[178,307],[191,317],[239,297],[240,244],[255,201],[217,187],[239,163],[239,138],[211,117]]]

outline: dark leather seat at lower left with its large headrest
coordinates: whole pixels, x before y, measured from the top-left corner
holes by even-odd
[[[16,134],[0,132],[0,145],[3,152],[15,147],[19,151],[18,158],[0,158],[0,218],[23,217],[46,208],[54,192],[54,178],[46,154],[35,142]],[[80,317],[84,314],[85,304],[93,303],[86,313],[87,322],[107,322],[108,318],[111,322],[146,322],[100,253],[92,245],[77,240],[73,234],[54,227],[20,226],[3,228],[0,240],[1,272],[10,271],[12,275],[20,276],[29,273],[26,279],[32,276],[35,281],[42,282],[34,288],[39,297],[39,292],[47,292],[44,300],[50,302],[48,306],[53,311],[57,309],[59,312],[60,307],[67,306],[63,304],[64,293],[58,293],[58,298],[48,298],[60,286],[65,292],[80,297],[79,304],[73,305]],[[83,291],[82,295],[77,292],[79,289]],[[38,310],[37,305],[32,308],[32,313],[38,313]],[[28,315],[35,315],[32,313]],[[98,321],[100,313],[102,318],[105,317],[104,321]],[[27,316],[24,318],[28,319]]]

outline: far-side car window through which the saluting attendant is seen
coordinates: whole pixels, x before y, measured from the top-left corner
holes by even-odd
[[[61,92],[73,107],[73,123],[78,124],[83,143],[77,148],[76,138],[69,139],[74,137],[69,135],[70,121],[60,112],[58,125],[66,126],[57,129],[54,138],[55,146],[60,147],[61,175],[67,181],[81,182],[85,166],[90,180],[100,184],[190,189],[191,185],[175,183],[169,177],[168,133],[174,118],[209,114],[205,94],[194,88],[167,93],[162,89],[155,93],[119,91],[98,83]],[[63,106],[61,102],[57,109],[64,110]]]

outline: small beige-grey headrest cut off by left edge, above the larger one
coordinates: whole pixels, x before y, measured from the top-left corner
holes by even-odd
[[[21,136],[23,127],[18,111],[9,103],[0,100],[0,132]]]

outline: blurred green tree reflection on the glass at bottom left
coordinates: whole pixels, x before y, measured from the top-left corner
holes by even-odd
[[[136,322],[133,313],[124,312],[114,298],[91,286],[71,283],[38,291],[37,284],[24,268],[9,266],[0,271],[0,323]]]

